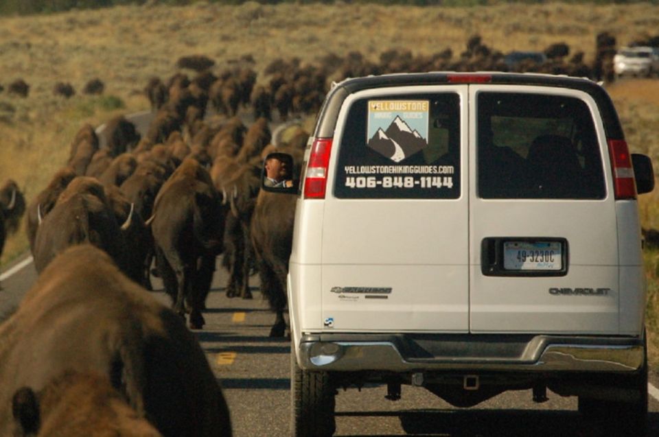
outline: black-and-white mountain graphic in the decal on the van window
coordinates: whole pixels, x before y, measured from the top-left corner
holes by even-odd
[[[380,128],[373,134],[368,146],[391,161],[400,163],[423,150],[428,146],[428,142],[417,130],[412,130],[402,118],[396,116],[386,130]]]

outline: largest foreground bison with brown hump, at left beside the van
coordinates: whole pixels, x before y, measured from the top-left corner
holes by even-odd
[[[39,392],[67,370],[103,375],[163,436],[231,436],[227,403],[194,335],[89,244],[41,272],[0,338],[1,436],[12,435],[16,390]]]

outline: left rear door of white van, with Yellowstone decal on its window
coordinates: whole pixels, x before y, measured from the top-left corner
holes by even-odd
[[[345,100],[324,200],[325,329],[469,329],[466,102],[466,85]]]

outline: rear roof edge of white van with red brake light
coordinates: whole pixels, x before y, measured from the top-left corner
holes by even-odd
[[[566,75],[546,73],[502,73],[500,71],[476,71],[470,73],[456,71],[432,71],[429,73],[395,73],[371,75],[363,78],[348,78],[334,84],[325,98],[319,113],[314,137],[334,136],[338,113],[343,101],[351,94],[373,88],[393,86],[423,86],[438,84],[505,84],[526,86],[551,86],[583,91],[590,95],[599,107],[606,136],[610,139],[624,139],[623,131],[614,105],[602,86],[588,78],[574,78]]]

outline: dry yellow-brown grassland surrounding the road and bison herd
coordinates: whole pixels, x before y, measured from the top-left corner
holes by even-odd
[[[530,17],[533,17],[531,19]],[[186,7],[125,6],[106,10],[0,18],[0,85],[17,78],[30,84],[27,98],[0,93],[0,182],[14,178],[28,200],[40,191],[69,153],[82,123],[148,108],[142,88],[152,75],[176,73],[181,56],[202,54],[216,71],[244,56],[262,75],[276,58],[314,62],[321,56],[360,51],[378,61],[389,49],[415,55],[450,48],[457,58],[467,39],[503,52],[542,50],[567,43],[592,62],[595,36],[610,32],[618,45],[659,33],[659,6],[500,4],[477,8],[419,8],[374,4],[281,4],[240,6],[197,3]],[[187,72],[191,73],[191,72]],[[82,95],[100,78],[102,96]],[[53,95],[56,82],[78,91]],[[608,86],[632,150],[659,163],[659,79],[625,80]],[[659,165],[659,164],[657,164]],[[659,190],[640,199],[644,226],[659,228]],[[25,250],[23,233],[11,237],[0,259],[5,266]],[[659,254],[648,253],[651,357],[659,365]]]

